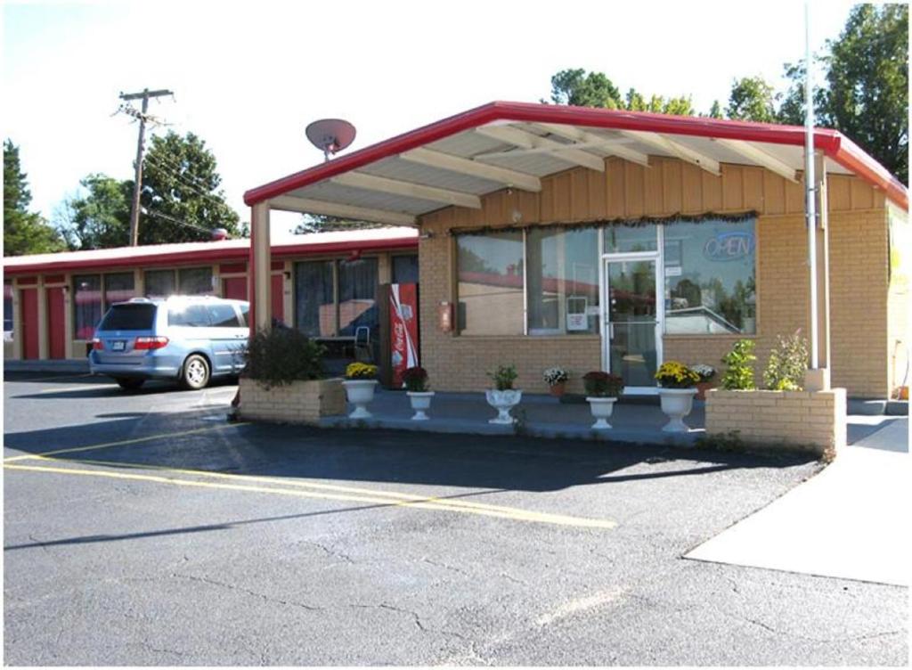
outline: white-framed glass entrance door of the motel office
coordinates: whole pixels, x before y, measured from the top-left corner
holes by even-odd
[[[654,392],[661,358],[655,256],[605,262],[606,359],[608,371],[627,391]]]

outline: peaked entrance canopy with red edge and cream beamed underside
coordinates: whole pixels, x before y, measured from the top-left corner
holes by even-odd
[[[828,173],[854,174],[908,208],[906,186],[840,132],[815,129],[814,148]],[[449,205],[480,208],[505,187],[540,191],[568,168],[604,171],[610,156],[647,167],[649,156],[679,158],[712,174],[723,162],[754,165],[798,181],[803,151],[800,126],[492,102],[258,186],[244,202],[415,225]]]

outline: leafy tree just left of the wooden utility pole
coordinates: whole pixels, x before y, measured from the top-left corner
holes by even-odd
[[[133,183],[89,174],[79,184],[85,195],[68,198],[57,212],[57,229],[70,249],[104,249],[130,244]]]

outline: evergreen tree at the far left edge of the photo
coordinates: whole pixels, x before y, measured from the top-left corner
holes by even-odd
[[[3,243],[4,256],[48,254],[64,249],[63,239],[36,212],[29,212],[32,194],[19,163],[19,147],[3,143]]]

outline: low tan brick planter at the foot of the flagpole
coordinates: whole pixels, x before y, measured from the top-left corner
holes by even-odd
[[[845,445],[845,389],[706,393],[706,434],[829,454]]]

